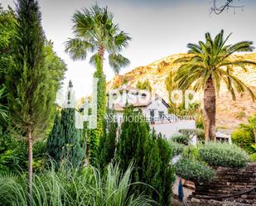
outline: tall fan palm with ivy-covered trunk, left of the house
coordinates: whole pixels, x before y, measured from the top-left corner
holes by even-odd
[[[99,142],[103,132],[103,118],[106,113],[106,80],[103,72],[104,55],[109,55],[109,65],[118,74],[129,60],[120,52],[128,46],[131,38],[127,33],[120,31],[118,24],[113,22],[113,14],[108,7],[101,8],[98,4],[75,12],[73,16],[73,32],[75,38],[66,42],[66,52],[73,60],[85,60],[87,53],[91,52],[89,62],[96,67],[94,77],[99,79],[97,95],[97,129],[90,137],[90,156],[94,158],[94,148]],[[96,149],[96,148],[95,148]]]

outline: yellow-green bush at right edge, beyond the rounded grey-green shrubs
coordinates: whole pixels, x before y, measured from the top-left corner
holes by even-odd
[[[254,152],[254,148],[252,146],[255,142],[254,132],[239,128],[232,133],[231,138],[234,144],[243,148],[245,151],[249,153]]]

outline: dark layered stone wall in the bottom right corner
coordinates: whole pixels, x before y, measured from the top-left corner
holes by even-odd
[[[229,198],[214,197],[239,194],[256,187],[256,164],[249,164],[244,169],[216,168],[216,178],[209,184],[196,187],[196,191],[189,196],[191,206],[256,206],[256,189],[248,194],[241,194]]]

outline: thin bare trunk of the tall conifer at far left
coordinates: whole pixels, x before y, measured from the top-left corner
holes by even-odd
[[[32,182],[33,182],[33,137],[31,130],[28,130],[28,187],[29,195],[32,198]]]

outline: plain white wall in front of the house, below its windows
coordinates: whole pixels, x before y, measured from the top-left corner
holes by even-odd
[[[171,136],[178,134],[180,129],[196,129],[195,120],[181,120],[178,122],[170,122],[166,124],[154,124],[151,125],[156,132],[161,132],[162,135],[170,139]],[[193,140],[194,142],[195,140]]]

